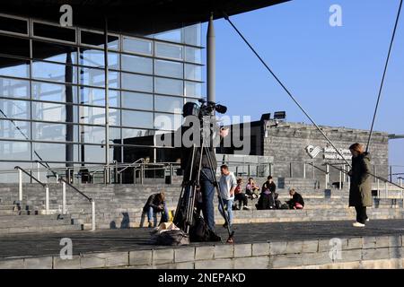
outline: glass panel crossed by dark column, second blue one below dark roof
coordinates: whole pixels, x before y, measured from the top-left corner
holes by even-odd
[[[69,84],[32,82],[32,99],[77,103],[77,89]]]

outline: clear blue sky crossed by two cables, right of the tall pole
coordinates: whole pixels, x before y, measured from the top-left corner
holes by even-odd
[[[342,27],[329,7],[342,7]],[[399,0],[293,0],[231,17],[233,23],[319,125],[369,129]],[[203,25],[203,39],[206,23]],[[216,100],[229,115],[302,111],[225,20],[215,21]],[[206,42],[204,42],[206,45]],[[404,11],[374,129],[404,134]],[[204,59],[206,63],[206,59]],[[390,163],[404,165],[404,139],[390,142]]]

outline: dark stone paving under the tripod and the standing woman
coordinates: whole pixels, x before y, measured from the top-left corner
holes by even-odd
[[[258,242],[285,242],[285,247],[289,248],[287,242],[290,241],[305,241],[299,246],[290,245],[290,248],[298,248],[311,250],[317,246],[311,246],[311,240],[316,239],[332,239],[341,238],[347,239],[347,245],[355,245],[356,238],[362,237],[385,237],[404,234],[404,220],[383,220],[368,222],[364,229],[352,227],[351,221],[341,222],[283,222],[283,223],[251,223],[240,224],[234,226],[235,243],[251,244]],[[158,250],[167,248],[162,246],[149,245],[148,240],[150,229],[122,229],[122,230],[96,230],[96,231],[69,231],[49,234],[17,234],[4,235],[0,237],[0,259],[2,258],[18,258],[18,257],[50,257],[58,256],[61,248],[60,239],[69,238],[73,242],[73,254],[80,255],[91,252],[112,252],[112,251],[132,251],[132,250]],[[227,239],[226,230],[223,227],[217,226],[216,231],[222,236],[222,239]],[[241,247],[233,248],[233,246],[224,245],[217,242],[193,243],[192,246],[197,246],[195,257],[204,257],[204,259],[214,259],[213,254],[217,249],[216,254],[233,254],[238,257],[241,254],[261,255],[275,252],[274,247],[254,246],[242,249]],[[361,241],[362,242],[362,241]],[[316,243],[317,244],[317,243]],[[379,246],[390,247],[394,242],[380,240],[373,242],[372,239],[366,239],[364,246],[376,248]],[[213,247],[215,246],[215,247]],[[320,247],[319,247],[320,248]],[[203,249],[203,250],[202,250]],[[220,249],[220,250],[219,250]],[[209,256],[209,250],[212,255]],[[219,252],[220,251],[220,252]],[[372,252],[372,251],[369,251]],[[130,255],[130,260],[135,260],[136,254]],[[176,254],[178,260],[185,260],[186,255],[183,253]],[[215,256],[217,257],[217,255]],[[182,258],[182,259],[181,259]],[[129,259],[129,258],[128,258]],[[160,257],[158,251],[154,251],[154,260],[159,259],[164,261],[164,257]],[[307,258],[309,260],[310,258]],[[303,258],[306,260],[306,258]],[[170,264],[171,262],[167,262]],[[89,262],[90,264],[90,262]],[[279,263],[282,265],[282,263]]]

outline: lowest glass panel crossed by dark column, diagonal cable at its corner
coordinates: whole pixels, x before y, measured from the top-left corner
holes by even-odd
[[[66,149],[73,153],[71,160],[78,161],[76,148],[73,143],[32,143],[34,151],[38,152],[44,161],[66,161]],[[33,154],[33,156],[35,156]]]

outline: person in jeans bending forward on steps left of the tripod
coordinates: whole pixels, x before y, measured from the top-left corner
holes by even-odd
[[[162,213],[162,222],[168,222],[169,212],[165,204],[165,195],[163,192],[151,195],[147,199],[143,207],[140,227],[143,227],[143,223],[145,222],[145,214],[147,214],[148,227],[157,226],[157,213]]]

